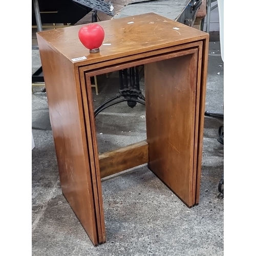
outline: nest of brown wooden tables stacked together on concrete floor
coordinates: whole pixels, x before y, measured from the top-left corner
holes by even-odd
[[[146,13],[99,23],[90,54],[81,26],[37,33],[62,193],[96,246],[106,241],[101,178],[147,163],[188,206],[199,203],[208,34]],[[98,155],[91,77],[144,65],[146,141]]]

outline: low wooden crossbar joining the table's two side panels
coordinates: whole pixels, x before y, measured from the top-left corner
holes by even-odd
[[[146,140],[99,155],[100,177],[122,172],[148,162]]]

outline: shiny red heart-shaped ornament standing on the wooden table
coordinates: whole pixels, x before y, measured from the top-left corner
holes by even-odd
[[[79,40],[84,47],[90,50],[90,53],[99,52],[104,36],[104,29],[94,23],[81,27],[78,32]]]

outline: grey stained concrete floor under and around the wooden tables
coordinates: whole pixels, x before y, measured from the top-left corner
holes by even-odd
[[[32,50],[32,73],[39,67],[38,50]],[[220,44],[210,42],[206,110],[223,111],[223,70]],[[98,87],[95,106],[117,93],[117,74],[99,76]],[[41,89],[33,87],[32,94],[32,255],[224,254],[224,199],[218,198],[223,145],[217,141],[223,120],[205,117],[198,206],[187,208],[145,165],[104,178],[106,243],[94,247],[61,193],[47,95]],[[143,105],[131,109],[125,102],[100,113],[100,153],[145,139],[144,115]]]

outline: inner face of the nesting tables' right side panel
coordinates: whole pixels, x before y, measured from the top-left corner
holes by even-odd
[[[148,167],[193,206],[198,50],[176,55],[145,65]]]

